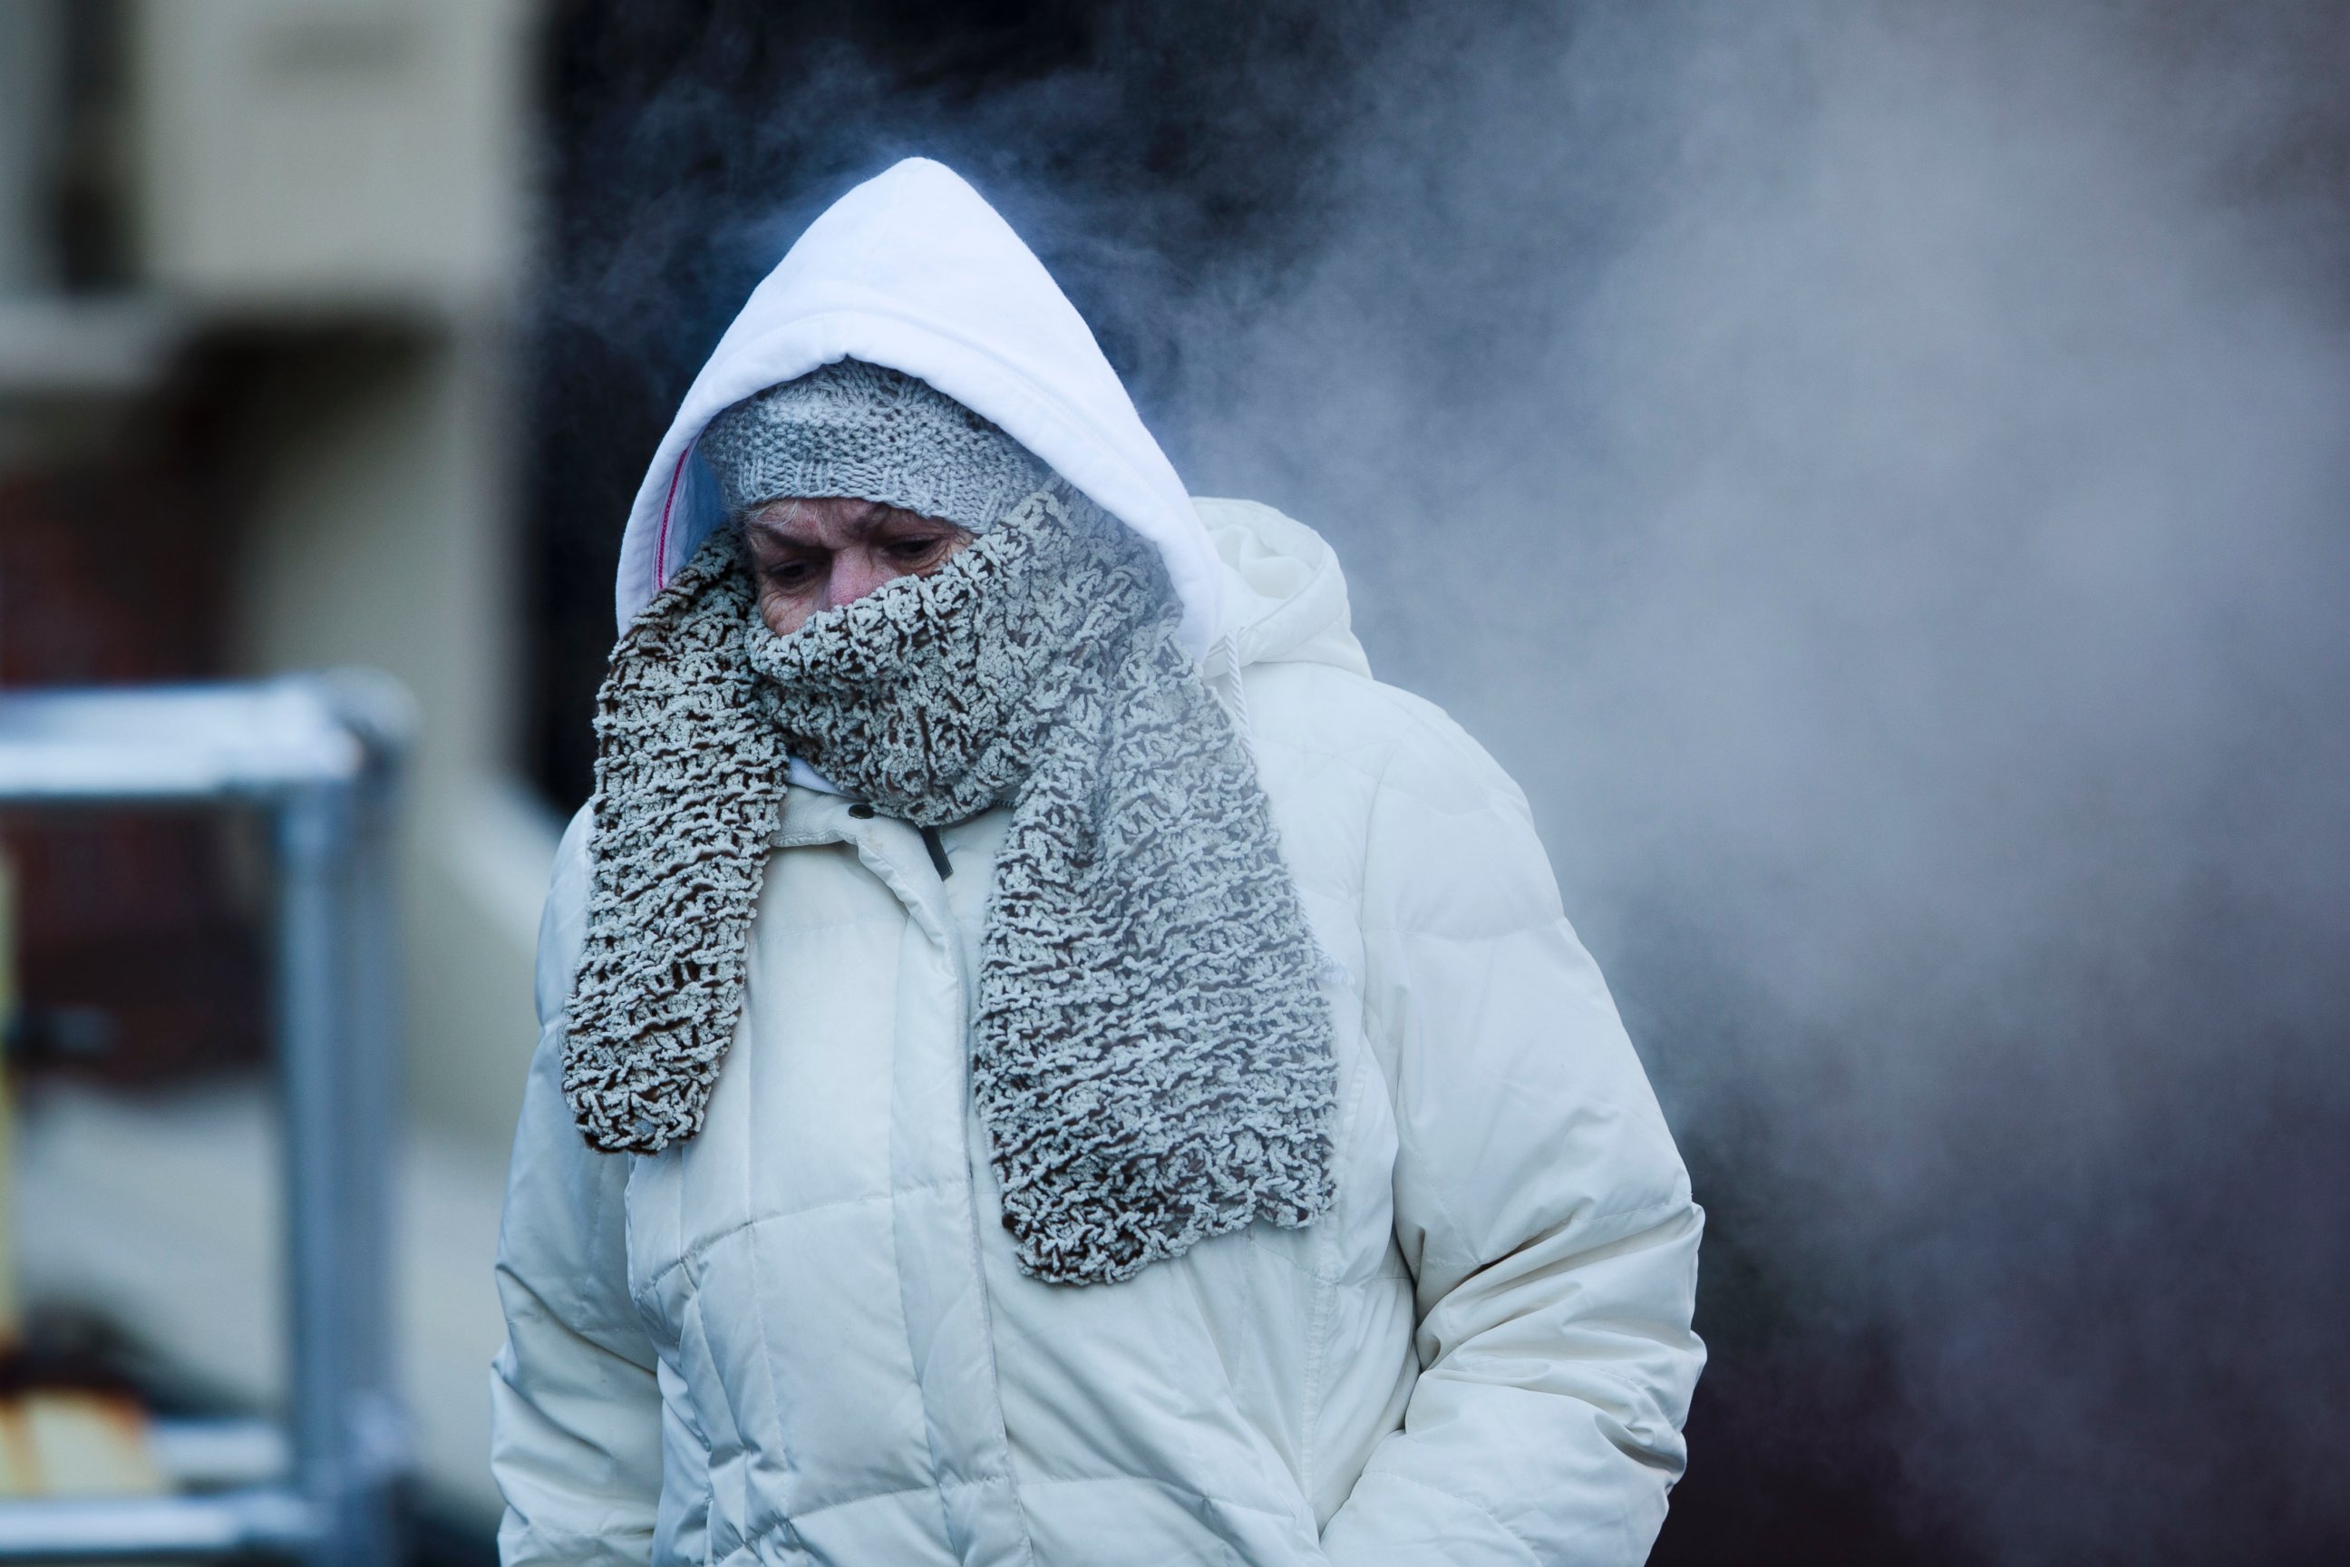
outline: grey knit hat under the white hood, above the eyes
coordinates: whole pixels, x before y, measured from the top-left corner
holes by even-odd
[[[837,359],[745,397],[700,439],[728,517],[783,496],[855,496],[987,531],[1046,486],[1029,449],[928,381]]]

